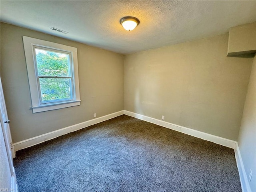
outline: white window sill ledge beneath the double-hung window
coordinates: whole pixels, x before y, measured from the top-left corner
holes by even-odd
[[[32,106],[33,113],[56,110],[61,108],[73,107],[80,105],[81,100],[76,101],[68,101],[68,102],[59,102],[59,103],[50,103],[50,104],[42,104],[40,106]]]

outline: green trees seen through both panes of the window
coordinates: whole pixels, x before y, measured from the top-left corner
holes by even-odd
[[[35,48],[42,102],[71,100],[69,54]]]

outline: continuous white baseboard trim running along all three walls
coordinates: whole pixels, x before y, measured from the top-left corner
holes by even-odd
[[[23,141],[20,141],[20,142],[16,142],[16,143],[13,144],[14,145],[14,150],[16,152],[18,150],[28,148],[28,147],[36,145],[36,144],[40,144],[40,143],[42,143],[46,140],[51,140],[53,138],[62,136],[64,134],[68,134],[70,132],[74,132],[76,130],[86,128],[88,126],[91,126],[91,125],[94,125],[94,124],[97,124],[97,123],[115,118],[115,117],[123,115],[123,114],[126,114],[128,116],[131,116],[131,117],[134,117],[134,118],[137,118],[137,119],[140,119],[140,120],[144,120],[146,122],[150,122],[150,123],[153,123],[153,124],[165,127],[165,128],[169,128],[169,129],[172,129],[172,130],[175,130],[175,131],[178,131],[178,132],[182,132],[184,134],[188,134],[188,135],[191,135],[191,136],[203,139],[203,140],[214,142],[216,144],[220,144],[220,145],[223,145],[223,146],[234,149],[235,157],[236,157],[236,164],[237,164],[237,167],[238,167],[238,172],[239,172],[239,176],[240,176],[240,180],[241,180],[242,191],[243,192],[251,191],[250,190],[250,185],[249,185],[249,182],[248,182],[248,179],[247,179],[247,176],[246,176],[246,172],[245,172],[245,169],[244,169],[244,164],[243,164],[243,161],[242,161],[240,150],[239,150],[239,147],[238,147],[238,143],[236,141],[229,140],[229,139],[222,138],[222,137],[215,136],[215,135],[211,135],[211,134],[204,133],[204,132],[201,132],[201,131],[197,131],[197,130],[194,130],[194,129],[186,128],[186,127],[183,127],[183,126],[180,126],[180,125],[172,124],[172,123],[169,123],[169,122],[166,122],[166,121],[158,120],[158,119],[155,119],[155,118],[152,118],[152,117],[144,116],[144,115],[137,114],[137,113],[130,112],[130,111],[126,111],[126,110],[118,111],[118,112],[108,114],[108,115],[105,115],[105,116],[102,116],[102,117],[99,117],[99,118],[95,118],[95,119],[92,119],[92,120],[88,120],[88,121],[85,121],[85,122],[82,122],[82,123],[78,123],[78,124],[75,124],[75,125],[72,125],[72,126],[68,126],[68,127],[59,129],[59,130],[56,130],[56,131],[52,131],[52,132],[49,132],[49,133],[46,133],[46,134],[42,134],[40,136],[36,136],[36,137],[30,138],[30,139],[26,139],[26,140],[23,140]]]

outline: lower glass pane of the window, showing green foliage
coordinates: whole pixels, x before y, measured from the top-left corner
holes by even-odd
[[[42,101],[71,99],[70,78],[39,78]]]

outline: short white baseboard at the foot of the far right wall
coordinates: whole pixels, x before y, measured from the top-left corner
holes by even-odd
[[[249,181],[248,181],[248,178],[246,176],[246,172],[245,172],[245,169],[244,169],[244,163],[243,163],[243,160],[242,160],[242,156],[240,154],[238,144],[237,144],[236,149],[235,149],[235,157],[236,157],[236,165],[237,165],[239,176],[240,176],[242,191],[243,192],[250,192],[252,190],[250,188]]]

